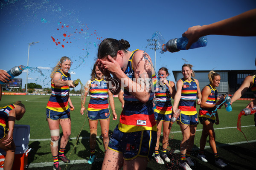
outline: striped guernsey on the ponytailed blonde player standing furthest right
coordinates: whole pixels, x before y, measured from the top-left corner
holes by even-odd
[[[217,97],[218,97],[217,89],[216,88],[213,89],[211,85],[207,85],[205,87],[210,88],[210,94],[209,94],[209,96],[207,98],[207,101],[205,103],[208,104],[208,105],[215,105]],[[207,118],[211,117],[211,119],[215,120],[215,114],[212,114],[212,111],[214,111],[214,110],[215,110],[214,108],[202,108],[202,107],[200,107],[199,117],[207,117]]]

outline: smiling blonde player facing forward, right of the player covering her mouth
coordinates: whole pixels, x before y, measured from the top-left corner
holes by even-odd
[[[191,64],[184,64],[182,66],[183,78],[177,81],[177,92],[172,107],[172,116],[177,118],[177,124],[180,125],[183,136],[180,144],[181,160],[179,165],[184,170],[191,170],[190,166],[194,166],[190,154],[194,145],[195,131],[198,125],[198,113],[195,104],[200,105],[202,98],[199,82],[197,79],[192,78],[195,77],[192,67],[193,65]],[[180,109],[180,114],[177,114],[177,108]]]

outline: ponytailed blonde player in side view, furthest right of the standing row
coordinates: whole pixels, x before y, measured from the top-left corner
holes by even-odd
[[[219,124],[216,105],[220,105],[222,101],[217,102],[218,91],[216,87],[219,86],[221,77],[218,73],[210,71],[208,78],[210,83],[202,90],[202,102],[199,111],[199,120],[201,124],[203,124],[203,130],[200,139],[198,158],[204,162],[207,162],[206,156],[204,155],[204,147],[207,141],[207,136],[209,136],[209,144],[215,156],[215,164],[217,164],[219,167],[225,167],[227,164],[225,164],[218,156],[215,144],[215,132],[213,128],[214,123],[216,125]]]

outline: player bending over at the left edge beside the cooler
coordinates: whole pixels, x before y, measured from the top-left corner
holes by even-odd
[[[0,148],[6,151],[4,170],[12,170],[15,157],[14,124],[15,120],[20,120],[25,112],[25,106],[20,101],[0,108]]]

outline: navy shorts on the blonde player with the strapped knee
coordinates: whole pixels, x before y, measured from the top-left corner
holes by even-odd
[[[58,120],[58,119],[68,119],[70,118],[70,109],[68,108],[66,111],[58,112],[52,111],[50,109],[46,109],[46,119]]]

